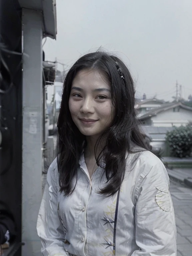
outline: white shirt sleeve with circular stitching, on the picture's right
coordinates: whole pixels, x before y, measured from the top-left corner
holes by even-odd
[[[174,209],[162,162],[140,175],[135,198],[135,238],[140,249],[132,256],[176,256]]]

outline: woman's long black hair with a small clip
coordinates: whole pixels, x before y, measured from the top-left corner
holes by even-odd
[[[116,193],[121,186],[126,168],[126,153],[131,151],[131,142],[146,149],[134,108],[134,83],[123,61],[105,52],[97,51],[84,55],[68,71],[64,80],[57,122],[59,184],[60,191],[66,195],[71,194],[74,190],[72,184],[74,184],[74,178],[77,182],[79,158],[83,152],[84,142],[86,142],[85,136],[80,133],[74,124],[69,111],[71,84],[76,74],[82,69],[102,71],[106,74],[110,83],[115,116],[111,127],[102,135],[106,139],[102,155],[105,161],[104,172],[107,183],[100,191],[100,193],[109,196]],[[96,159],[97,165],[99,165],[99,156]]]

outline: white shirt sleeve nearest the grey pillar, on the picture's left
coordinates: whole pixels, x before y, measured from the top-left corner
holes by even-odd
[[[63,247],[65,234],[57,212],[58,182],[55,179],[55,171],[57,171],[56,159],[47,173],[47,184],[37,219],[37,233],[41,239],[41,252],[44,256],[68,256]]]

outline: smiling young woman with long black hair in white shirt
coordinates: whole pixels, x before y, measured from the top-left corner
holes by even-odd
[[[130,72],[95,52],[69,70],[38,235],[44,256],[176,256],[169,177],[145,148]]]

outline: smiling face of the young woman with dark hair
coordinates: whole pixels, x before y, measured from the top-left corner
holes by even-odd
[[[99,136],[111,126],[114,110],[104,73],[83,69],[75,76],[69,97],[73,122],[86,136]]]

